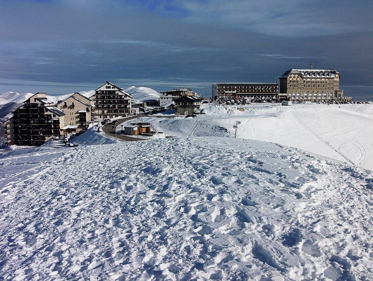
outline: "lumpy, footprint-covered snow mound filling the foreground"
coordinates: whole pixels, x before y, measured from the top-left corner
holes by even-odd
[[[119,142],[0,172],[4,280],[373,279],[372,173],[298,149]]]

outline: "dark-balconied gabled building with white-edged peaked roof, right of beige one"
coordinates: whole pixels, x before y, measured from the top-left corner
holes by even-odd
[[[94,99],[95,118],[100,121],[131,112],[132,96],[109,81],[95,90]]]

